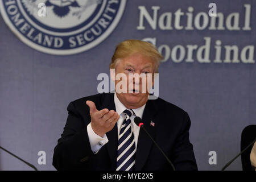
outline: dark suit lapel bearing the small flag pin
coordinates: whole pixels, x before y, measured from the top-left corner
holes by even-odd
[[[157,115],[156,115],[156,107],[154,105],[154,100],[148,100],[143,111],[142,122],[144,123],[144,128],[148,131],[152,138],[155,137],[155,128],[157,126],[151,126],[150,122],[157,123]],[[157,125],[157,124],[155,124]],[[139,131],[139,138],[137,143],[136,150],[136,161],[135,161],[135,170],[140,171],[146,160],[148,158],[148,154],[150,153],[150,148],[152,147],[152,141],[150,137],[144,132],[143,129]]]

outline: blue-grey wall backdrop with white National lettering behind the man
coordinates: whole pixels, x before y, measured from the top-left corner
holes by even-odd
[[[240,152],[243,128],[256,123],[256,6],[249,0],[214,1],[224,22],[211,25],[211,2],[127,1],[105,40],[66,56],[28,47],[1,16],[0,146],[40,170],[54,170],[53,148],[69,102],[97,93],[97,76],[109,73],[119,42],[147,38],[165,57],[159,97],[191,117],[190,139],[199,169],[220,170]],[[46,164],[38,163],[39,151],[46,152]],[[216,151],[217,164],[209,164],[209,151]],[[0,151],[0,169],[31,168]],[[241,159],[227,169],[241,170]]]

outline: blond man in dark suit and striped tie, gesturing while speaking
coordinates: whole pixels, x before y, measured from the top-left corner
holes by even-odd
[[[197,170],[189,142],[188,114],[161,98],[148,99],[154,85],[154,79],[148,76],[153,73],[154,78],[158,73],[161,59],[152,44],[140,40],[126,40],[117,46],[110,64],[115,71],[110,73],[115,93],[80,98],[68,105],[67,123],[53,154],[56,169],[172,170],[147,134],[134,123],[135,117],[141,117],[145,129],[176,170]],[[142,77],[129,77],[137,73],[150,80],[145,93]],[[121,74],[122,79],[116,79],[116,74]]]

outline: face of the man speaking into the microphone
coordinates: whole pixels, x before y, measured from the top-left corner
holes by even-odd
[[[136,53],[117,63],[117,66],[115,67],[115,75],[118,73],[124,73],[126,75],[125,81],[127,83],[126,93],[116,92],[119,101],[121,101],[128,109],[136,109],[146,104],[150,89],[144,90],[143,86],[144,88],[147,88],[148,81],[152,84],[151,87],[154,85],[154,61],[148,56]],[[138,77],[138,75],[141,75],[142,73],[145,74],[144,78]],[[148,73],[152,74],[152,81],[148,80]],[[131,77],[129,79],[129,75],[131,76],[131,74],[134,74],[134,76],[137,75],[137,79]],[[144,81],[142,81],[143,79]],[[121,80],[115,80],[115,89],[117,89],[117,84]]]

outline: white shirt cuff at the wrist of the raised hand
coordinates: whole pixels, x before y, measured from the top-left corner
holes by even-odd
[[[109,142],[106,134],[104,134],[104,136],[102,138],[99,135],[97,135],[96,133],[94,133],[90,123],[89,123],[89,125],[87,125],[87,133],[88,133],[88,137],[89,137],[90,148],[92,149],[92,152],[94,154],[97,154],[97,152],[101,149],[101,147],[104,146],[104,144]]]

